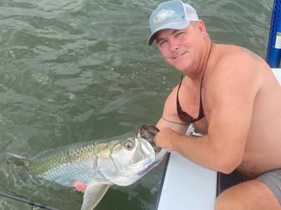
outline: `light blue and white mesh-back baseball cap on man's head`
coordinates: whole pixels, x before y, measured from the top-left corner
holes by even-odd
[[[162,29],[185,29],[191,21],[198,21],[196,10],[180,0],[164,1],[150,15],[151,35],[148,45],[152,45],[155,34]]]

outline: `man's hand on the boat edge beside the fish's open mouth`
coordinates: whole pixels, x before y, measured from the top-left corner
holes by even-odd
[[[161,148],[164,148],[166,151],[171,153],[174,150],[173,141],[180,137],[181,134],[171,130],[169,128],[160,130],[158,134],[155,136],[155,145]]]

